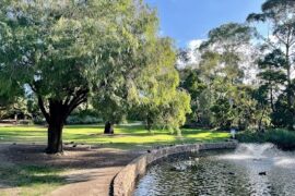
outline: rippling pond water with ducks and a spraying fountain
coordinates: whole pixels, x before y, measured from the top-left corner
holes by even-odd
[[[295,152],[271,144],[241,144],[234,151],[203,151],[150,167],[135,196],[295,196]]]

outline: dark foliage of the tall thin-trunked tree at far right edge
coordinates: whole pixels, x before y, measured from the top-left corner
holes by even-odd
[[[258,35],[258,38],[263,40],[263,48],[267,48],[268,53],[262,61],[259,62],[262,72],[259,76],[267,81],[270,89],[270,105],[272,108],[273,117],[278,117],[279,110],[275,111],[273,91],[275,88],[285,88],[287,111],[284,112],[284,118],[287,119],[288,130],[294,130],[294,91],[292,90],[292,79],[294,70],[294,46],[295,46],[295,2],[291,0],[267,0],[262,4],[260,13],[249,14],[247,21],[249,23],[267,23],[270,27],[269,34],[275,37],[275,39],[270,39],[269,36],[266,37],[262,34]],[[279,96],[281,96],[279,95]],[[276,96],[276,97],[279,97]],[[280,101],[278,99],[278,101]],[[280,105],[280,103],[279,103]],[[283,109],[284,110],[284,109]],[[280,111],[281,112],[281,111]],[[276,120],[273,119],[273,122]],[[279,120],[281,121],[281,120]],[[276,123],[276,122],[275,122]]]

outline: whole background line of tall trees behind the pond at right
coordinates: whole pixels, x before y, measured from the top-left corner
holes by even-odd
[[[268,26],[268,33],[261,26]],[[179,70],[191,95],[191,124],[228,130],[294,130],[295,2],[268,0],[245,24],[212,29],[201,58]],[[249,69],[252,69],[249,72]]]

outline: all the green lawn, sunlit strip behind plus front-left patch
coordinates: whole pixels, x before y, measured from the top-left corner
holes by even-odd
[[[71,125],[63,130],[63,143],[101,145],[106,148],[140,150],[158,145],[222,142],[225,132],[184,128],[182,136],[155,130],[149,133],[141,125],[117,125],[115,135],[103,134],[103,125]],[[43,126],[2,126],[0,144],[46,144],[47,128]],[[11,155],[14,156],[14,155]],[[17,156],[17,155],[15,155]],[[34,161],[25,164],[0,162],[0,195],[46,195],[67,184],[67,170],[39,166]],[[63,173],[63,174],[62,174]],[[1,184],[12,187],[1,189]]]

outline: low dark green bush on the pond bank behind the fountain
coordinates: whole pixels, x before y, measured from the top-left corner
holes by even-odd
[[[236,138],[241,143],[272,143],[284,150],[295,149],[295,132],[286,130],[269,130],[261,132],[241,132]]]

